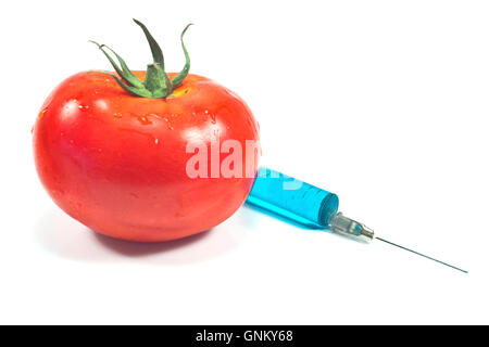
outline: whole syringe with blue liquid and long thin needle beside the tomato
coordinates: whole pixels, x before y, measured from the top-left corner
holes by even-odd
[[[365,224],[338,213],[339,200],[336,194],[268,168],[259,169],[247,204],[314,229],[328,228],[335,233],[365,241],[376,239],[467,273],[457,267],[375,236],[374,231]]]

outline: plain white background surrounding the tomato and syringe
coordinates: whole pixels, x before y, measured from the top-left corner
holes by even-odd
[[[489,5],[485,1],[3,1],[0,323],[489,323]],[[151,55],[240,94],[262,164],[336,192],[378,235],[355,243],[241,208],[166,244],[99,236],[34,169],[48,93]]]

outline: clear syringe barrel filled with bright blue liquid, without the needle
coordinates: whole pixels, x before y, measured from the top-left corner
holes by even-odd
[[[314,228],[326,228],[338,211],[338,196],[261,167],[247,204]]]

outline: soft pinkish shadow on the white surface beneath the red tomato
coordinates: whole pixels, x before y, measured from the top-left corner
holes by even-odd
[[[234,217],[233,217],[234,218]],[[208,260],[233,250],[244,236],[239,218],[185,239],[138,243],[99,234],[52,207],[35,224],[40,246],[52,255],[77,261],[143,261],[178,265]]]

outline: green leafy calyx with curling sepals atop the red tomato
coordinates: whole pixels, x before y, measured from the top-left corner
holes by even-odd
[[[115,79],[115,81],[121,86],[121,88],[123,88],[131,95],[151,99],[164,99],[168,97],[175,90],[175,88],[181,85],[185,77],[187,77],[188,72],[190,70],[190,56],[184,43],[184,35],[191,24],[188,24],[180,35],[181,48],[185,54],[185,66],[181,69],[181,72],[171,80],[168,75],[165,73],[165,62],[163,57],[163,52],[160,46],[158,44],[156,40],[154,40],[154,38],[152,37],[152,35],[150,34],[145,24],[142,24],[137,20],[133,21],[137,25],[139,25],[139,27],[145,33],[145,36],[151,49],[151,53],[153,55],[153,63],[148,64],[145,81],[141,81],[139,78],[137,78],[130,72],[126,62],[110,47],[105,44],[99,44],[96,41],[90,41],[97,44],[97,47],[102,51],[102,53],[111,63],[112,67],[114,67],[117,75],[106,72],[100,73],[112,76]],[[117,63],[112,59],[112,56],[108,53],[106,50],[109,50],[112,54],[115,55],[121,66],[117,65]]]

